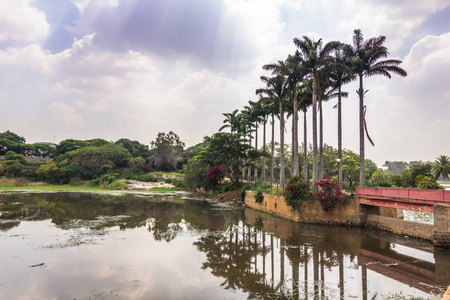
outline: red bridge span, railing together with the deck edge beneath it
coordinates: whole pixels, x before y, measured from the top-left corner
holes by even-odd
[[[450,206],[450,191],[358,187],[360,204],[433,212],[434,205]]]

